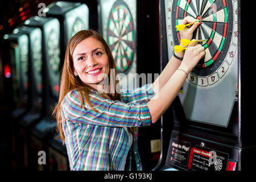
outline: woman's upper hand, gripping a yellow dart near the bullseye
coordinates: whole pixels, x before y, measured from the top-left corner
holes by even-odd
[[[181,24],[188,24],[195,22],[197,19],[192,18],[191,16],[186,16]],[[188,39],[191,40],[193,37],[193,32],[196,30],[196,28],[199,26],[199,22],[194,23],[192,26],[185,27],[183,30],[180,31],[180,40],[181,39]]]

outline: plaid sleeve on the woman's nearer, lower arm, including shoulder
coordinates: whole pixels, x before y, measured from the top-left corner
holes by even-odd
[[[79,93],[76,90],[69,92],[61,103],[63,117],[72,122],[109,127],[141,127],[151,124],[145,102],[126,104],[106,99],[96,93],[90,93],[89,98],[97,112],[90,109],[86,102],[80,107]]]

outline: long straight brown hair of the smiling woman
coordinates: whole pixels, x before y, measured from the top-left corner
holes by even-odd
[[[105,42],[104,38],[100,34],[98,34],[96,31],[93,30],[81,30],[77,32],[69,41],[66,53],[65,53],[65,60],[63,64],[63,68],[61,70],[61,77],[60,77],[60,96],[59,96],[59,102],[56,105],[55,109],[53,110],[53,115],[55,115],[56,120],[57,120],[57,126],[56,129],[57,131],[60,132],[60,139],[63,141],[65,140],[64,132],[63,132],[63,127],[62,127],[62,119],[61,119],[61,102],[63,101],[65,95],[70,92],[71,90],[76,89],[79,94],[80,94],[80,101],[81,101],[81,107],[84,105],[84,97],[85,97],[85,102],[88,104],[90,109],[97,111],[95,108],[92,107],[89,101],[89,93],[91,90],[95,90],[89,85],[86,85],[84,82],[82,82],[79,78],[79,76],[74,75],[74,65],[73,65],[73,51],[76,48],[77,44],[79,44],[82,40],[86,38],[95,38],[99,40],[104,48],[105,51],[108,55],[108,60],[109,60],[109,68],[114,69],[115,72],[109,73],[109,86],[110,90],[115,90],[113,88],[117,88],[118,80],[115,80],[115,76],[117,75],[117,69],[115,67],[115,61],[112,56],[112,52],[110,51],[110,48],[108,44]],[[114,82],[113,82],[114,80]],[[84,96],[84,97],[83,97]],[[117,92],[114,93],[101,93],[101,96],[111,99],[111,100],[121,100],[121,95],[118,94]]]

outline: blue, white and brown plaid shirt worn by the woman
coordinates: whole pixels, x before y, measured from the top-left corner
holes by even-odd
[[[92,90],[89,98],[96,113],[85,102],[80,107],[76,90],[69,92],[61,103],[61,118],[71,170],[120,170],[126,155],[125,170],[142,170],[137,132],[129,150],[125,127],[151,125],[146,103],[153,96],[151,84],[121,92],[122,102]]]

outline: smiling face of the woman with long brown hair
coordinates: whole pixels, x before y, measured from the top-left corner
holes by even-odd
[[[73,52],[74,74],[90,86],[97,86],[105,73],[109,75],[109,60],[103,44],[95,38],[86,38]]]

